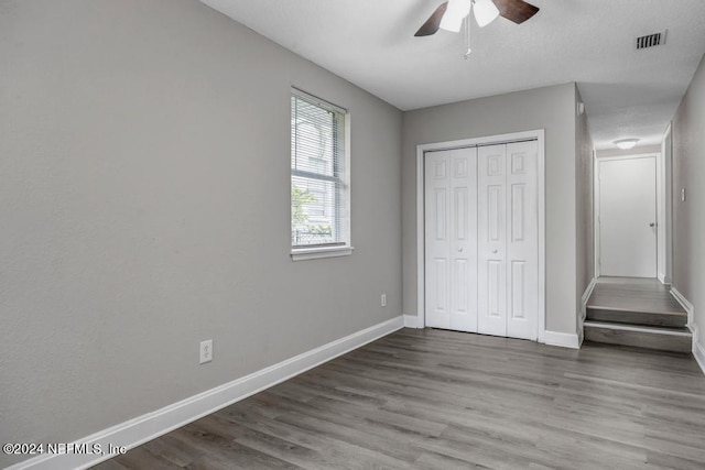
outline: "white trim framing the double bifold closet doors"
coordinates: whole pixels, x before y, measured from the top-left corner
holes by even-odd
[[[474,145],[491,145],[525,140],[538,143],[538,188],[539,188],[539,328],[538,341],[545,342],[545,138],[544,130],[512,132],[484,138],[434,142],[416,145],[416,317],[417,327],[426,325],[425,313],[425,216],[424,216],[424,153],[429,151],[451,150]]]

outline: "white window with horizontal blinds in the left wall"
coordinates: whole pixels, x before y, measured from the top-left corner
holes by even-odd
[[[292,258],[350,254],[347,111],[292,89]]]

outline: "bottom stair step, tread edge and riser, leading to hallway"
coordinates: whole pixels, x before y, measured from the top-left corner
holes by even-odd
[[[687,328],[648,327],[594,320],[586,320],[583,327],[587,341],[672,352],[691,352],[693,347],[693,335]]]

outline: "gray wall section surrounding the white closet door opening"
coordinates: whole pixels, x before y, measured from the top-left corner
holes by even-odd
[[[576,332],[575,99],[575,85],[565,84],[404,113],[404,314],[417,314],[416,145],[545,129],[546,328]]]

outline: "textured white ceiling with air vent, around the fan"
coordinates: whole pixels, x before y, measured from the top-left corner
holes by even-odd
[[[705,53],[705,0],[530,0],[463,34],[414,32],[443,0],[202,0],[402,110],[577,81],[597,149],[655,144]],[[668,30],[636,51],[634,37]]]

